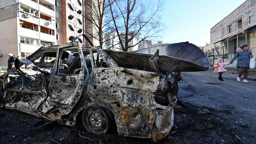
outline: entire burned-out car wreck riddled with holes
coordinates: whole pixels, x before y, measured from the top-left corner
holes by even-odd
[[[158,50],[113,52],[71,42],[17,57],[0,78],[0,95],[7,109],[68,126],[81,115],[90,133],[105,134],[116,125],[119,136],[160,140],[173,126],[180,72],[208,67]]]

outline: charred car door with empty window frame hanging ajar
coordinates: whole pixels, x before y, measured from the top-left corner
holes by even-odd
[[[47,99],[48,110],[58,108],[61,115],[69,114],[83,94],[89,74],[83,56],[82,48],[78,45],[72,55],[72,63],[66,65],[61,61],[61,55],[67,48],[57,51],[54,68],[50,75],[49,92]]]

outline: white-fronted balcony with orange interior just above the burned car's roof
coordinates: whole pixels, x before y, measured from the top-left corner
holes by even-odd
[[[40,31],[41,41],[56,42],[54,30],[41,26]]]

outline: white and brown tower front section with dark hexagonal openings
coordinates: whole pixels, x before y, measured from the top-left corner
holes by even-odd
[[[57,44],[71,42],[76,36],[84,34],[83,0],[55,0]],[[83,37],[78,38],[83,44]]]

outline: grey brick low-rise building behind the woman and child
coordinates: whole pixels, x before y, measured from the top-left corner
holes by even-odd
[[[236,49],[250,44],[256,55],[256,0],[246,0],[223,20],[211,28],[211,43],[204,46],[204,52],[224,61],[234,57]],[[234,63],[236,65],[236,61]]]

